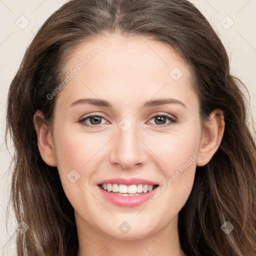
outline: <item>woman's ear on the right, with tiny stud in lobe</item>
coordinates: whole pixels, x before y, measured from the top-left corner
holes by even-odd
[[[209,120],[204,124],[199,151],[201,155],[196,159],[197,166],[203,166],[209,162],[217,151],[224,133],[224,115],[220,109],[215,109],[209,115]]]

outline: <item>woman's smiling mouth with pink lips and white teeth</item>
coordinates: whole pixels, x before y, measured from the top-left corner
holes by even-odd
[[[98,187],[105,199],[122,207],[138,206],[153,195],[158,184],[152,181],[132,179],[108,179],[98,183]]]

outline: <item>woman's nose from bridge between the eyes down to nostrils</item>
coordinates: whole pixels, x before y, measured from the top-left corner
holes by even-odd
[[[113,150],[110,160],[112,163],[118,163],[123,168],[132,168],[135,164],[142,163],[145,160],[143,143],[137,137],[138,127],[135,123],[123,118],[117,127]]]

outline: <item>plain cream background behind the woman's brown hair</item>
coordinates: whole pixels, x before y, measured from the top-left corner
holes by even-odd
[[[15,255],[16,220],[7,209],[10,154],[4,144],[7,91],[35,32],[65,0],[0,0],[0,255]],[[256,0],[193,0],[226,47],[231,73],[248,87],[256,119]],[[11,152],[10,152],[11,153]],[[31,209],[32,210],[32,209]],[[6,228],[6,216],[9,216]]]

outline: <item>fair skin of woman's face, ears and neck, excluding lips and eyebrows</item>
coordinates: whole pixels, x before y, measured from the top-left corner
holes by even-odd
[[[213,111],[202,130],[189,67],[166,44],[142,36],[115,33],[83,42],[70,55],[64,74],[94,48],[99,52],[57,95],[53,124],[43,122],[40,110],[34,115],[41,156],[57,166],[74,208],[78,255],[183,255],[178,212],[190,194],[196,165],[205,165],[220,144],[222,112]],[[174,67],[182,72],[176,80],[169,75]],[[166,97],[182,103],[143,107],[145,101]],[[112,107],[70,106],[82,98],[104,99]],[[95,127],[86,127],[79,120],[88,114],[104,117],[98,125],[87,118],[83,124]],[[155,117],[160,114],[176,121]],[[126,127],[131,124],[126,131],[118,126],[123,118]],[[189,166],[158,198],[136,207],[107,201],[97,186],[104,179],[136,177],[160,188],[184,163]],[[74,183],[67,177],[71,170],[80,175]],[[118,228],[123,221],[130,226],[126,233]]]

